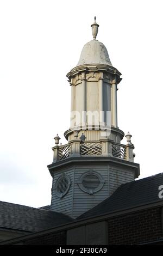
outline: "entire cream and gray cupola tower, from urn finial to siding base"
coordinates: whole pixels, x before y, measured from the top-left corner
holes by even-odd
[[[134,163],[131,135],[117,125],[117,84],[121,73],[108,51],[96,40],[99,25],[91,25],[93,40],[84,45],[79,62],[68,72],[71,86],[71,124],[68,143],[53,147],[51,209],[73,218],[111,196],[118,186],[140,174]]]

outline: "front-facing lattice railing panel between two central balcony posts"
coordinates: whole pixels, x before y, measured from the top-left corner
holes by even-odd
[[[102,143],[101,142],[84,142],[80,144],[81,155],[101,155]]]

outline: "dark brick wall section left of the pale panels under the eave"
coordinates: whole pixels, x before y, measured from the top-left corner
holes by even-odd
[[[24,245],[66,245],[66,231],[34,237],[24,241]]]

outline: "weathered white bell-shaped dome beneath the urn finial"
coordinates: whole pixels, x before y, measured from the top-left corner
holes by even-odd
[[[104,64],[112,66],[108,51],[102,42],[93,39],[84,45],[77,66],[84,64]]]

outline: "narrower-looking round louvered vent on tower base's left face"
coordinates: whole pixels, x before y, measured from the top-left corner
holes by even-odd
[[[71,185],[68,175],[62,174],[55,183],[54,191],[58,197],[64,197]]]

